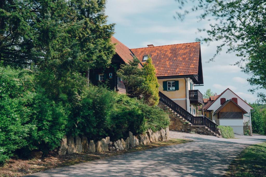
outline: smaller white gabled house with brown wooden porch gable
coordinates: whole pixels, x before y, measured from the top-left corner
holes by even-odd
[[[234,133],[243,135],[245,122],[250,126],[250,111],[253,108],[227,88],[220,95],[214,95],[202,106],[203,115],[218,125],[230,126]],[[251,129],[252,130],[252,129]]]

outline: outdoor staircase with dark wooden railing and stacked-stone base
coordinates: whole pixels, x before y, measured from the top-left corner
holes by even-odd
[[[216,133],[218,125],[207,117],[193,116],[163,93],[159,96],[159,106],[170,113],[170,130],[221,137]]]

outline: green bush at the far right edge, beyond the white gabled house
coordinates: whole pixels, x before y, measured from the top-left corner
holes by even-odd
[[[263,121],[263,112],[260,110],[260,107],[256,104],[251,104],[254,108],[251,113],[251,125],[252,132],[258,134],[264,134],[265,123]]]

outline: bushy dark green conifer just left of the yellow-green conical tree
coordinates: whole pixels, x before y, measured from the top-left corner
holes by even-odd
[[[133,60],[129,64],[122,64],[121,68],[117,71],[118,77],[123,80],[123,83],[127,89],[132,88],[136,95],[143,93],[143,84],[145,79],[143,78],[143,70],[139,67],[140,62],[137,57],[134,56]]]

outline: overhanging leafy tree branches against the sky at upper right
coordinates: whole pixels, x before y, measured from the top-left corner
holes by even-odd
[[[181,4],[180,9],[189,1],[176,0]],[[177,12],[177,17],[184,20],[185,15],[190,12],[199,12],[201,20],[210,20],[210,29],[199,29],[204,31],[208,37],[197,39],[198,41],[216,42],[216,54],[219,54],[223,47],[227,47],[227,52],[236,52],[241,60],[239,65],[243,72],[251,75],[249,83],[255,88],[250,89],[255,92],[258,89],[266,89],[266,2],[262,0],[190,0],[193,6],[190,10]],[[213,61],[213,58],[210,60]],[[242,63],[246,63],[242,67]],[[258,97],[266,100],[264,93],[257,93]]]

